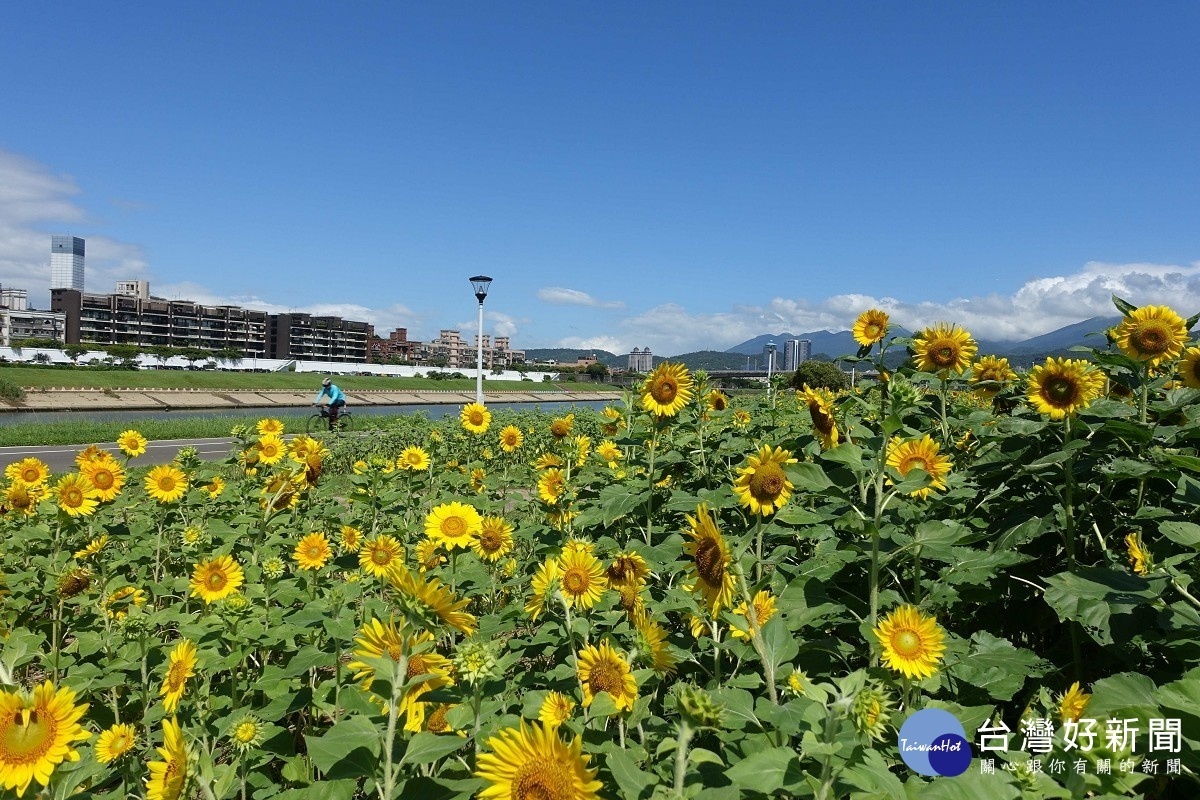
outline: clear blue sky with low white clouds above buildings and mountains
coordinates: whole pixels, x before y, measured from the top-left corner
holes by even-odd
[[[515,347],[1200,311],[1200,5],[17,4],[0,282]]]

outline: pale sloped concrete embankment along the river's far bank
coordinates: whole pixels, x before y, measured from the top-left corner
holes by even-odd
[[[0,402],[4,411],[110,411],[181,409],[275,408],[302,409],[312,405],[316,392],[220,391],[212,389],[26,389],[23,401]],[[572,403],[606,401],[618,397],[612,391],[503,391],[484,392],[485,403]],[[347,403],[355,405],[444,405],[473,403],[475,392],[462,391],[390,391],[346,392]]]

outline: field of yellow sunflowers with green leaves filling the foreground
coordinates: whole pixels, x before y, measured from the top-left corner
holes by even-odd
[[[1022,374],[870,309],[840,393],[13,463],[0,796],[1198,796],[1196,319],[1116,302]]]

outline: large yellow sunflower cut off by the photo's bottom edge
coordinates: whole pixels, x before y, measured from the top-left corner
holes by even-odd
[[[599,800],[602,784],[588,769],[583,739],[565,742],[558,729],[536,722],[504,728],[487,740],[493,751],[480,753],[475,777],[487,782],[480,800]]]

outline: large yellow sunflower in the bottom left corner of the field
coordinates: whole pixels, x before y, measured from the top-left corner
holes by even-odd
[[[59,764],[79,760],[74,742],[91,733],[79,724],[88,704],[74,699],[52,681],[28,693],[0,690],[0,786],[24,796],[34,780],[44,787]]]

